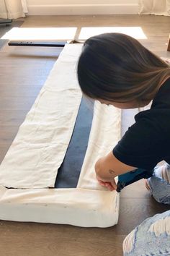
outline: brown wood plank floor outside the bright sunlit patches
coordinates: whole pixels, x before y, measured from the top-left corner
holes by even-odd
[[[22,25],[22,27],[77,27],[74,36],[76,39],[79,38],[81,27],[97,26],[142,27],[148,39],[140,39],[140,42],[159,56],[170,58],[170,52],[166,51],[169,17],[153,15],[27,17]],[[3,160],[14,140],[19,125],[34,103],[60,51],[59,48],[9,46],[1,49],[0,161]],[[135,226],[156,213],[169,210],[169,206],[153,200],[143,181],[126,187],[120,196],[119,223],[108,229],[0,221],[0,255],[120,256],[122,241]]]

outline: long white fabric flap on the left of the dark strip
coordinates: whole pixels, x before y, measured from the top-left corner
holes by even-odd
[[[0,185],[54,187],[81,103],[76,61],[81,46],[66,46],[0,166]]]

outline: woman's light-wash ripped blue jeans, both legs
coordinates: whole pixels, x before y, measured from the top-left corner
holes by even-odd
[[[146,188],[156,201],[170,205],[170,165],[156,166]],[[170,210],[143,221],[125,237],[122,248],[124,256],[170,255]]]

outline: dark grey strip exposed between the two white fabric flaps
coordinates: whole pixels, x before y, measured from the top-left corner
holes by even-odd
[[[55,188],[74,188],[77,186],[89,141],[92,119],[93,106],[89,107],[86,100],[82,98],[71,141],[63,163],[58,169]]]

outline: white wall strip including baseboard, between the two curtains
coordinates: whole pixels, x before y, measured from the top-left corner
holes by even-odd
[[[138,0],[27,0],[30,15],[137,14]]]

